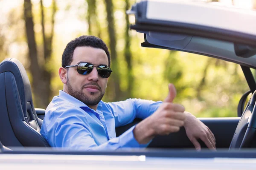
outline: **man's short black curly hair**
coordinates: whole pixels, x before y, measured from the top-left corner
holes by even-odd
[[[62,54],[61,66],[65,68],[67,65],[70,65],[73,61],[73,54],[76,47],[83,46],[101,48],[102,50],[104,50],[108,56],[108,67],[110,67],[110,53],[108,51],[107,45],[104,41],[102,41],[102,39],[91,35],[82,35],[67,44]]]

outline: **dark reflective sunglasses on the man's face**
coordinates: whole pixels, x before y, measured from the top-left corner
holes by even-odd
[[[77,72],[79,74],[86,75],[86,74],[90,74],[90,72],[93,71],[93,67],[96,67],[96,66],[93,66],[93,64],[91,63],[81,62],[78,65],[67,65],[65,68],[69,68],[69,67],[77,67]],[[102,78],[110,77],[112,70],[107,65],[99,65],[96,68],[100,77]]]

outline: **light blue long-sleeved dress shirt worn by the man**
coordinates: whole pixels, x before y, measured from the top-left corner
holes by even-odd
[[[162,102],[127,99],[120,102],[100,101],[96,111],[64,91],[55,96],[45,111],[40,133],[52,147],[72,150],[116,150],[123,147],[146,147],[134,138],[131,127],[116,137],[116,127],[135,118],[145,119]]]

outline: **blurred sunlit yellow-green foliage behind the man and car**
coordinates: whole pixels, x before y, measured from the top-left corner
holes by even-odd
[[[29,60],[27,57],[28,47],[26,44],[25,28],[23,21],[23,1],[16,0],[16,4],[1,1],[8,6],[8,10],[2,11],[0,22],[0,59],[15,57],[25,66],[29,78]],[[49,1],[49,0],[48,0]],[[47,23],[50,14],[51,3],[44,0],[46,13],[46,31],[50,29]],[[130,0],[133,4],[135,0]],[[42,54],[41,14],[39,0],[32,0],[32,14],[35,23],[35,36],[38,45],[39,62]],[[55,15],[53,51],[52,57],[47,62],[47,68],[52,73],[49,87],[53,96],[63,88],[58,77],[58,68],[61,66],[61,55],[68,42],[74,38],[88,34],[86,0],[57,0],[57,12]],[[1,7],[2,8],[2,7]],[[163,49],[143,48],[140,43],[144,41],[143,34],[134,30],[129,32],[131,38],[132,70],[127,69],[124,57],[125,49],[125,0],[113,0],[113,16],[116,28],[116,52],[119,64],[120,90],[122,98],[141,98],[148,100],[163,100],[168,94],[168,83],[173,83],[177,89],[177,97],[174,102],[181,103],[186,111],[197,117],[233,117],[237,115],[237,105],[244,92],[249,90],[247,82],[239,65],[221,61],[214,58],[189,54],[185,52],[169,51]],[[94,14],[94,13],[93,13]],[[96,16],[95,16],[96,15]],[[91,29],[91,34],[101,36],[109,46],[108,22],[106,18],[103,0],[96,1],[96,13],[90,20],[97,20]],[[129,18],[134,22],[134,18]],[[93,23],[92,23],[93,24]],[[100,28],[99,28],[100,27]],[[94,29],[95,28],[95,29]],[[128,88],[127,73],[131,72],[134,77],[133,89],[130,94],[125,93]],[[112,77],[110,77],[111,79]],[[32,79],[31,79],[32,81]],[[33,88],[33,87],[32,87]],[[104,96],[105,102],[112,102],[111,91],[108,86],[108,95]],[[36,107],[40,107],[36,105]]]

